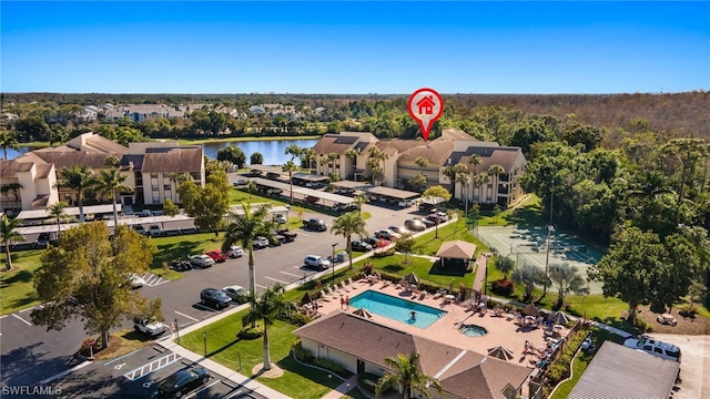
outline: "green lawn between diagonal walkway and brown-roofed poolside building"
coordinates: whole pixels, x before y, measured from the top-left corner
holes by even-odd
[[[325,371],[302,366],[293,360],[291,348],[296,342],[296,337],[291,332],[296,329],[296,326],[283,321],[276,321],[268,327],[268,338],[272,362],[281,367],[284,375],[280,378],[254,376],[253,367],[264,360],[263,340],[262,338],[254,340],[236,338],[245,313],[246,310],[243,310],[181,337],[180,344],[196,354],[204,355],[203,331],[205,331],[207,357],[293,398],[322,398],[343,382],[339,378],[328,379],[328,374]]]

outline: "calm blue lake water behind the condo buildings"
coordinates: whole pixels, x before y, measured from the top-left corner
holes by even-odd
[[[300,147],[312,147],[317,143],[317,139],[296,139],[296,140],[273,140],[273,141],[244,141],[233,143],[205,143],[204,154],[210,158],[217,157],[217,151],[223,147],[234,144],[242,149],[246,154],[246,162],[253,153],[260,152],[264,155],[264,165],[282,165],[286,161],[291,160],[291,155],[286,155],[284,152],[291,144],[296,144]],[[8,160],[14,160],[21,154],[24,154],[33,149],[27,146],[20,146],[18,150],[8,149]],[[1,156],[1,155],[0,155]]]

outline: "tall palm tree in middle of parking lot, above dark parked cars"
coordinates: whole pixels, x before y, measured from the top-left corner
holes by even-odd
[[[256,274],[254,270],[254,238],[256,236],[271,236],[274,223],[268,222],[268,209],[271,204],[261,205],[256,211],[252,211],[250,203],[242,201],[243,214],[231,213],[232,222],[226,227],[222,252],[227,253],[234,244],[242,245],[248,253],[248,288],[250,293],[255,293]]]

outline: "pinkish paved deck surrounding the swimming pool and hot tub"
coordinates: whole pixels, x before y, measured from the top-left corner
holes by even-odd
[[[446,342],[448,345],[459,347],[462,349],[468,349],[481,355],[486,355],[489,348],[501,346],[506,349],[509,349],[514,354],[514,358],[511,361],[519,362],[520,365],[525,365],[526,367],[532,367],[530,365],[530,360],[537,359],[531,355],[524,355],[525,341],[529,341],[536,348],[541,348],[546,345],[546,340],[544,338],[544,329],[537,328],[523,331],[514,323],[515,318],[508,320],[506,319],[505,314],[504,317],[496,317],[493,316],[493,311],[489,309],[485,315],[480,315],[478,313],[473,313],[467,308],[468,301],[464,301],[462,304],[445,303],[444,298],[434,299],[430,294],[428,294],[426,298],[419,300],[418,297],[412,298],[412,293],[405,291],[403,288],[397,288],[393,284],[389,284],[386,287],[383,287],[383,285],[384,284],[382,282],[377,282],[371,285],[363,279],[356,280],[351,286],[346,287],[347,291],[343,291],[343,289],[341,289],[341,291],[343,293],[343,295],[347,295],[353,298],[354,296],[362,294],[368,289],[376,290],[383,294],[388,294],[398,298],[413,300],[417,304],[428,305],[430,307],[445,310],[446,315],[444,315],[439,320],[435,321],[427,328],[413,327],[405,323],[396,321],[378,315],[373,315],[372,320],[400,331],[405,331],[415,336],[426,337],[428,339],[434,339],[440,342]],[[328,296],[326,298],[328,299],[328,301],[318,300],[318,311],[321,314],[326,315],[331,311],[352,313],[353,310],[355,310],[355,308],[351,308],[349,310],[341,309],[339,293],[338,297],[336,298],[334,298],[333,296]],[[458,329],[459,323],[463,323],[465,325],[471,324],[485,327],[488,330],[488,334],[483,337],[465,336]],[[566,328],[558,331],[561,334],[561,336],[566,336],[568,334],[568,330]]]

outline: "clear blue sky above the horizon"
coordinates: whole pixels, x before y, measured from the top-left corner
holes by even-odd
[[[2,92],[710,90],[710,2],[7,1]]]

